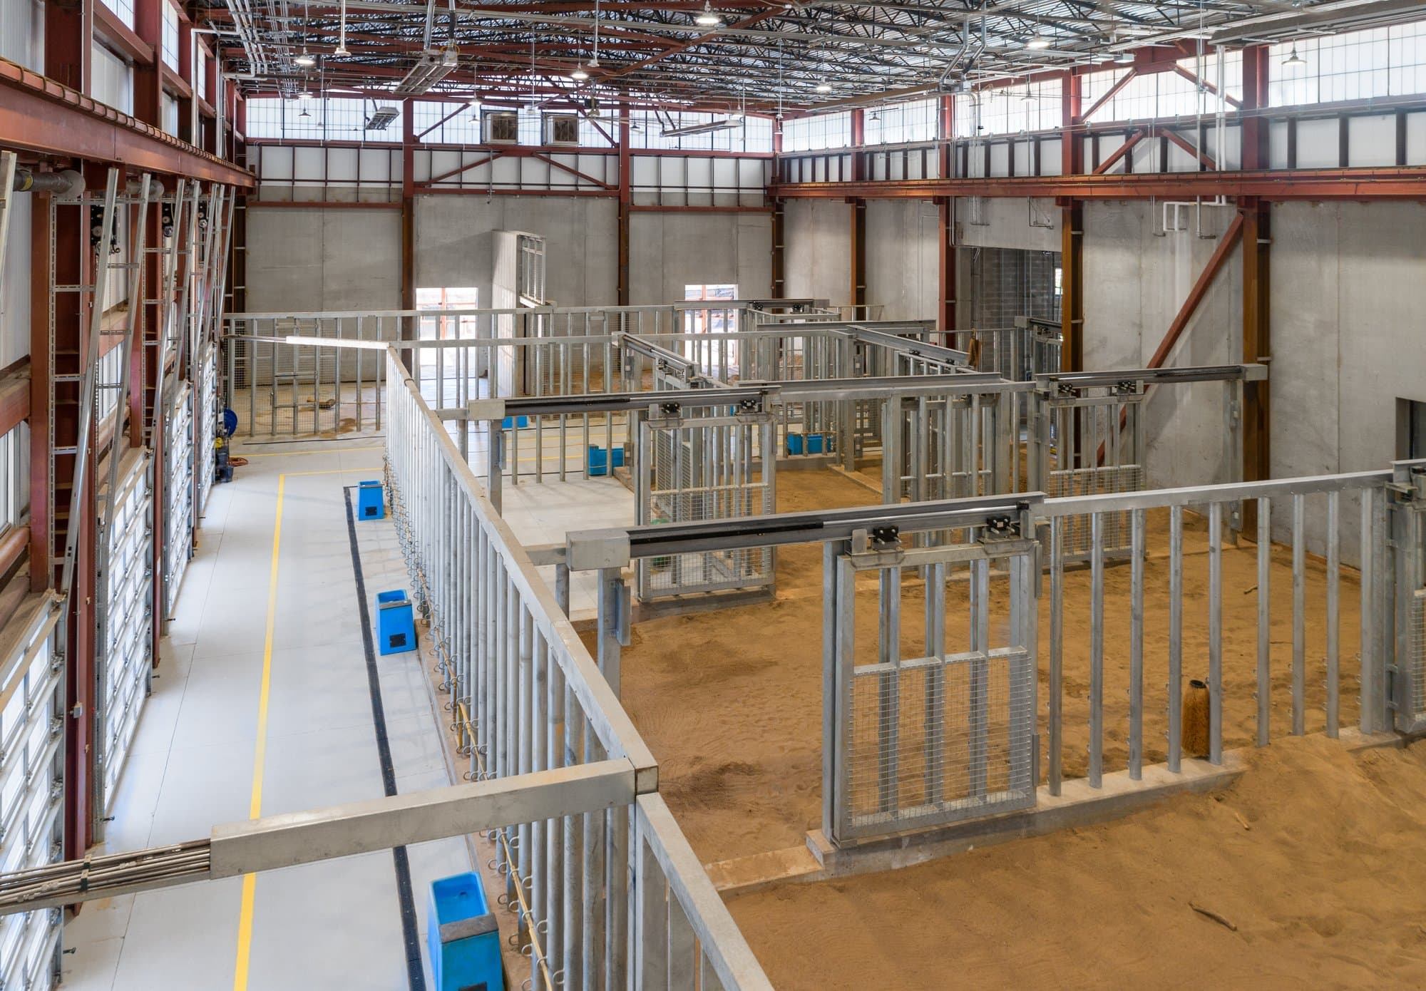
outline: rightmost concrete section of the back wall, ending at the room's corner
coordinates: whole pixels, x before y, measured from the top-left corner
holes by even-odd
[[[769,214],[636,212],[629,222],[629,301],[682,299],[687,285],[734,284],[744,298],[773,292]]]

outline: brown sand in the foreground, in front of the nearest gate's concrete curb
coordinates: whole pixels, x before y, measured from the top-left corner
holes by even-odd
[[[1426,987],[1426,746],[1248,763],[1215,796],[729,907],[793,991]]]

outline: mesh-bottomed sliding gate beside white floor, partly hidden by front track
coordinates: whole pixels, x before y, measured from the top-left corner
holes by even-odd
[[[690,523],[774,512],[774,458],[761,456],[767,415],[643,423],[642,523]],[[771,548],[732,548],[639,562],[639,597],[773,585]]]

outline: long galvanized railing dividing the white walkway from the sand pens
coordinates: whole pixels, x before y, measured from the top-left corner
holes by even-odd
[[[395,526],[468,774],[519,780],[619,759],[633,767],[629,806],[492,833],[530,985],[770,987],[657,794],[616,670],[602,673],[589,656],[395,351],[386,411]]]

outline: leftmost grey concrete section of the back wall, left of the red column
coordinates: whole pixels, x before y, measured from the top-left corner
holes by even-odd
[[[401,211],[250,208],[251,312],[401,308]]]

